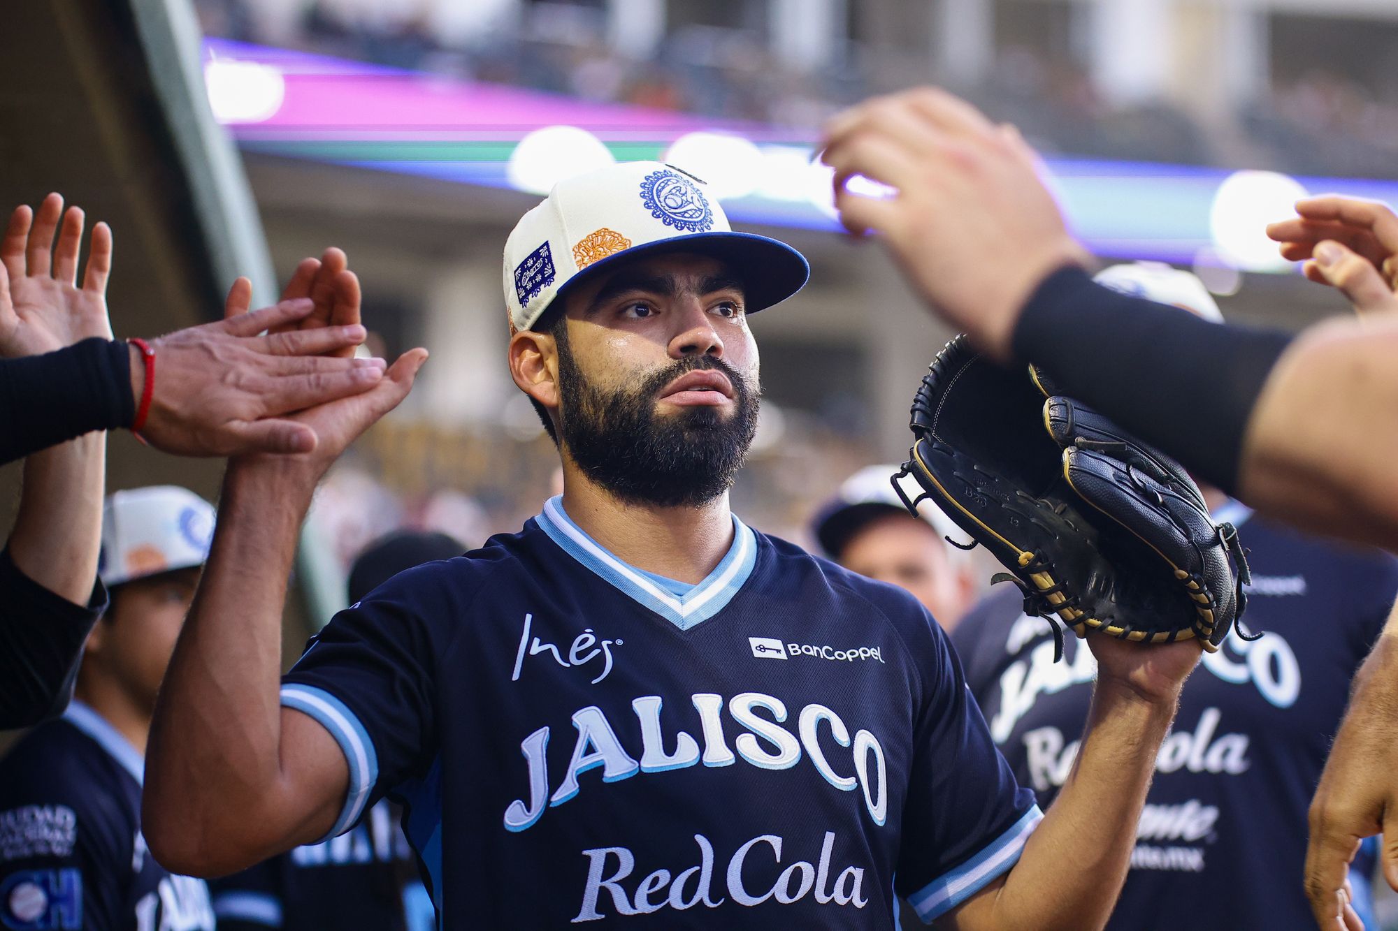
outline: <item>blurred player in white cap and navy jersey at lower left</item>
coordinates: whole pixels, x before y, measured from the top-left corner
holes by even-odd
[[[99,575],[110,605],[73,703],[0,760],[0,927],[212,931],[203,879],[172,875],[141,835],[144,751],[214,509],[158,485],[108,496]]]

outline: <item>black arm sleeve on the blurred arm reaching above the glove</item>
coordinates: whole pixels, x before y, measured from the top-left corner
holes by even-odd
[[[1289,342],[1281,331],[1209,323],[1061,268],[1025,305],[1012,348],[1064,394],[1233,493],[1253,405]]]

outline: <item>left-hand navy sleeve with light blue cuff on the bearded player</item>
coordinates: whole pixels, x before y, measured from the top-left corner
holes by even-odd
[[[410,569],[337,614],[282,678],[282,706],[319,721],[350,767],[327,839],[435,756],[438,657],[468,609],[443,582],[445,565]]]

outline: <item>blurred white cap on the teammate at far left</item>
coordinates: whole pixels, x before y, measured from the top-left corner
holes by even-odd
[[[102,584],[119,586],[175,569],[203,566],[214,540],[214,506],[178,485],[108,495],[102,507]]]

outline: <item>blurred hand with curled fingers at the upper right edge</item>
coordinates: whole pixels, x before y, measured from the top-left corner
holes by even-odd
[[[1353,197],[1297,201],[1299,218],[1271,224],[1283,259],[1342,291],[1362,317],[1398,313],[1398,214]]]

